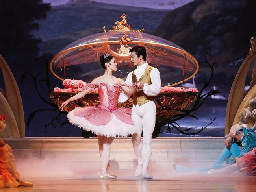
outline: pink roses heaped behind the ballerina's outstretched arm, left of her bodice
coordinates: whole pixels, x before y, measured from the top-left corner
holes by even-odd
[[[62,85],[64,85],[64,89],[55,87],[53,92],[55,93],[81,92],[84,90],[86,83],[82,80],[65,79]],[[98,89],[93,89],[91,92],[96,93],[98,92]]]

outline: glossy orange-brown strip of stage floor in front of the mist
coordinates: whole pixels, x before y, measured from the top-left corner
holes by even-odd
[[[164,180],[95,180],[72,178],[26,178],[33,181],[33,187],[2,189],[1,192],[253,192],[256,177],[193,176],[166,178]]]

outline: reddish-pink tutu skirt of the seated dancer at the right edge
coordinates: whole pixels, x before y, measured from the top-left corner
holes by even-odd
[[[253,148],[243,157],[236,158],[236,163],[241,172],[248,176],[256,176],[256,148]]]

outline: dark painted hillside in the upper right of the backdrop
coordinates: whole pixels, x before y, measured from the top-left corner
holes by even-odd
[[[256,35],[254,0],[195,0],[170,11],[155,35],[202,61],[206,51],[218,65],[245,58]]]

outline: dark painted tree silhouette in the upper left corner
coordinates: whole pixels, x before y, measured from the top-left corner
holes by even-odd
[[[50,9],[42,0],[0,0],[0,54],[14,74],[30,68],[38,57],[41,39],[33,31],[39,30],[37,20],[46,18]]]

